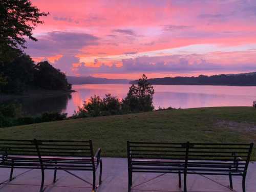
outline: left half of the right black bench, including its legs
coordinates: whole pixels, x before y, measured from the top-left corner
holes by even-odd
[[[133,185],[133,173],[184,174],[187,143],[153,143],[127,141],[128,187]]]

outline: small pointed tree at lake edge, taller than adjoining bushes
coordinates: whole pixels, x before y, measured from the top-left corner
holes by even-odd
[[[153,95],[155,90],[147,81],[145,74],[138,80],[137,86],[132,84],[127,96],[123,99],[123,108],[129,108],[132,112],[154,110]]]

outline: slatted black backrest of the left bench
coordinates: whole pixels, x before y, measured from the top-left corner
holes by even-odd
[[[82,157],[91,159],[94,164],[92,141],[61,140],[0,140],[0,155],[54,157]]]

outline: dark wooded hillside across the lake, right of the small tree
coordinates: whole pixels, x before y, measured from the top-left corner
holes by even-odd
[[[256,72],[222,74],[198,77],[164,77],[148,79],[152,84],[211,85],[211,86],[256,86]],[[130,83],[137,83],[131,81]]]

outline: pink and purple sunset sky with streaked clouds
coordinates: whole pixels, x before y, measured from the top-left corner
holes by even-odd
[[[136,79],[256,71],[256,1],[31,0],[35,62],[69,76]]]

